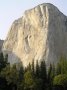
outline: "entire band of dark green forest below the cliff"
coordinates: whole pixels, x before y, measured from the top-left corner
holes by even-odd
[[[20,63],[10,65],[8,55],[0,53],[0,90],[67,90],[67,60],[61,57],[57,65],[46,68],[34,60],[26,68]]]

